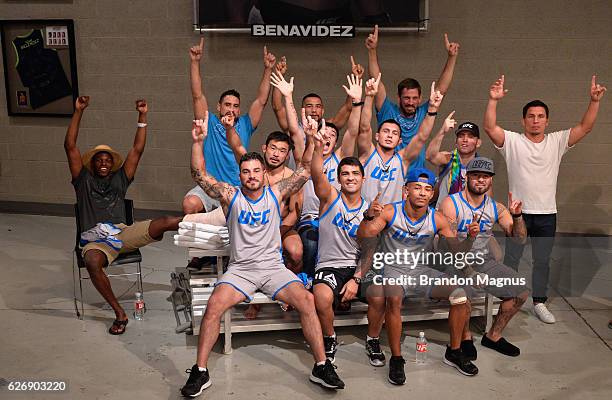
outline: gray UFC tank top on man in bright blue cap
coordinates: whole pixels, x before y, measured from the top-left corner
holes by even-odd
[[[438,231],[434,218],[435,210],[428,208],[421,218],[411,221],[404,210],[404,203],[405,201],[393,203],[393,219],[387,224],[382,233],[379,251],[395,253],[397,250],[400,250],[401,254],[404,253],[404,249],[409,253],[431,251],[433,249],[433,238]],[[420,257],[423,260],[425,254]],[[393,267],[404,270],[426,264],[425,262],[414,263],[414,259],[411,256],[406,257],[406,261],[402,265]]]

